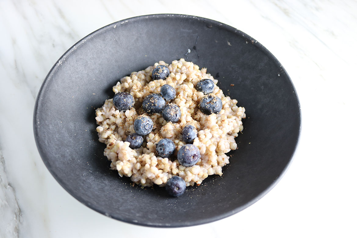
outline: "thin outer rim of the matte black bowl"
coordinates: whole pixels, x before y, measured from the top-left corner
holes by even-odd
[[[217,215],[217,216],[213,216],[210,218],[202,218],[200,220],[197,220],[196,222],[191,222],[190,224],[187,223],[173,223],[173,224],[167,224],[167,223],[151,223],[151,222],[138,222],[134,219],[127,219],[127,218],[123,218],[123,217],[118,217],[118,216],[111,216],[109,213],[107,213],[106,211],[103,211],[102,209],[100,209],[100,207],[96,207],[94,206],[94,204],[90,203],[89,201],[86,201],[85,199],[83,199],[79,194],[76,194],[76,192],[66,186],[64,181],[61,179],[61,176],[59,176],[59,174],[57,174],[54,169],[52,168],[52,165],[48,162],[48,160],[46,159],[46,153],[44,152],[44,150],[42,149],[42,145],[40,144],[40,142],[38,141],[37,138],[40,137],[40,132],[39,132],[39,126],[37,126],[37,124],[39,123],[39,110],[41,108],[41,100],[40,98],[42,97],[42,95],[44,95],[45,93],[45,88],[51,78],[51,75],[54,74],[54,72],[57,70],[57,68],[61,65],[62,61],[65,60],[65,58],[67,56],[69,56],[74,49],[78,48],[81,44],[84,44],[87,40],[89,40],[90,38],[94,37],[97,34],[102,34],[103,32],[112,29],[114,26],[120,26],[122,24],[126,24],[127,22],[131,22],[131,21],[140,21],[140,20],[145,20],[145,19],[152,19],[152,18],[167,18],[167,17],[175,17],[178,19],[182,19],[182,18],[188,18],[188,19],[196,19],[198,21],[203,21],[212,25],[216,25],[219,26],[227,31],[231,31],[234,34],[240,35],[241,37],[245,37],[247,40],[253,40],[255,41],[254,44],[256,45],[256,47],[258,47],[261,51],[263,51],[263,53],[265,53],[268,57],[270,57],[271,60],[274,61],[274,63],[276,65],[279,65],[282,69],[282,72],[284,72],[287,76],[287,79],[290,81],[291,86],[293,88],[293,93],[295,94],[296,97],[296,102],[298,105],[298,122],[300,124],[299,130],[298,130],[298,135],[297,135],[297,139],[296,139],[296,144],[295,147],[293,148],[293,152],[292,155],[288,161],[288,163],[286,164],[285,168],[282,170],[281,174],[276,177],[276,179],[273,181],[272,184],[270,184],[270,186],[268,186],[265,190],[263,190],[260,194],[258,194],[254,199],[252,199],[251,201],[243,204],[240,207],[236,207],[228,212],[222,213],[221,215]],[[115,28],[114,27],[114,28]],[[265,196],[273,187],[276,186],[276,184],[281,180],[281,178],[285,175],[287,169],[291,166],[291,163],[293,161],[293,157],[295,156],[295,152],[296,152],[296,148],[298,147],[298,145],[300,144],[300,135],[301,135],[301,120],[302,120],[302,116],[301,116],[301,105],[300,105],[300,101],[296,92],[296,88],[293,85],[293,82],[290,78],[290,76],[288,75],[288,73],[286,72],[285,68],[280,64],[280,62],[276,59],[276,57],[270,52],[268,51],[262,44],[260,44],[260,42],[256,41],[255,39],[253,39],[251,36],[247,35],[246,33],[232,27],[229,26],[227,24],[224,24],[222,22],[219,21],[215,21],[212,19],[207,19],[205,17],[199,17],[199,16],[192,16],[192,15],[183,15],[183,14],[151,14],[151,15],[141,15],[141,16],[134,16],[134,17],[130,17],[127,19],[123,19],[120,21],[116,21],[113,22],[109,25],[106,25],[104,27],[101,27],[98,30],[95,30],[93,32],[91,32],[90,34],[88,34],[87,36],[83,37],[82,39],[80,39],[79,41],[77,41],[74,45],[72,45],[57,61],[56,63],[52,66],[52,68],[50,69],[49,73],[46,75],[44,81],[42,82],[42,85],[40,87],[40,90],[37,94],[36,97],[36,101],[35,101],[35,107],[34,107],[34,115],[33,115],[33,130],[34,130],[34,137],[35,137],[35,142],[36,142],[36,146],[37,146],[37,150],[39,151],[39,154],[41,156],[42,161],[44,162],[45,166],[47,167],[47,169],[49,170],[49,172],[52,174],[52,176],[56,179],[56,181],[61,185],[62,188],[64,188],[72,197],[74,197],[75,199],[77,199],[77,201],[79,201],[80,203],[84,204],[85,206],[91,208],[92,210],[99,212],[107,217],[110,218],[114,218],[116,220],[122,221],[122,222],[126,222],[126,223],[130,223],[130,224],[135,224],[135,225],[141,225],[141,226],[146,226],[146,227],[188,227],[188,226],[197,226],[197,225],[201,225],[201,224],[206,224],[206,223],[210,223],[210,222],[214,222],[214,221],[218,221],[220,219],[229,217],[233,214],[236,214],[242,210],[244,210],[245,208],[251,206],[252,204],[256,203],[259,199],[261,199],[263,196]]]

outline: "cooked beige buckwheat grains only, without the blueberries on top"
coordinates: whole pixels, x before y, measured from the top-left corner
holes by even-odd
[[[152,79],[152,71],[157,65],[169,68],[169,76],[165,80]],[[111,169],[144,187],[153,184],[165,186],[172,176],[179,176],[184,179],[186,186],[193,186],[195,183],[200,185],[208,175],[222,175],[222,167],[229,163],[225,153],[237,148],[234,138],[243,130],[245,108],[238,107],[237,100],[224,96],[216,85],[218,81],[206,71],[184,59],[174,60],[170,65],[159,61],[145,70],[132,72],[113,87],[115,93],[130,93],[135,104],[130,110],[119,111],[113,99],[109,99],[96,110],[99,125],[96,130],[99,141],[106,144],[104,155],[111,161]],[[222,101],[222,110],[217,114],[206,115],[199,108],[201,99],[207,95],[195,87],[203,79],[214,82],[210,95]],[[176,97],[165,102],[166,105],[175,103],[180,108],[181,117],[176,123],[167,122],[160,113],[146,113],[142,108],[144,98],[152,93],[160,94],[165,84],[174,87],[176,91]],[[130,143],[125,140],[128,135],[135,133],[134,121],[140,115],[149,116],[154,125],[152,131],[143,136],[142,146],[131,149]],[[191,167],[184,167],[177,160],[178,150],[186,144],[181,134],[186,125],[197,128],[197,137],[192,144],[201,154],[198,162]],[[156,152],[156,144],[163,138],[170,139],[176,146],[171,158],[162,158]]]

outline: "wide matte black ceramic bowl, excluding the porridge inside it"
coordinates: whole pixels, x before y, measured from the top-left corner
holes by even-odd
[[[95,108],[132,71],[180,58],[206,67],[247,118],[223,176],[209,176],[173,198],[164,188],[132,186],[110,170]],[[132,224],[183,227],[228,217],[270,191],[291,163],[300,120],[287,72],[259,42],[217,21],[165,14],[115,22],[65,52],[37,96],[34,133],[49,171],[81,203]]]

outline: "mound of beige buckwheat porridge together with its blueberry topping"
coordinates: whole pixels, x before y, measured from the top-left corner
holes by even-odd
[[[176,186],[174,193],[180,182],[184,191],[208,175],[221,176],[246,115],[217,82],[184,59],[159,61],[117,82],[114,98],[96,110],[111,169],[143,187]]]

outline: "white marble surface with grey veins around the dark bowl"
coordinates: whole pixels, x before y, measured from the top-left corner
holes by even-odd
[[[356,12],[353,0],[1,0],[0,237],[356,237]],[[160,229],[105,217],[55,181],[35,145],[35,97],[57,59],[102,26],[155,13],[246,32],[277,57],[300,97],[300,144],[283,179],[210,224]]]

